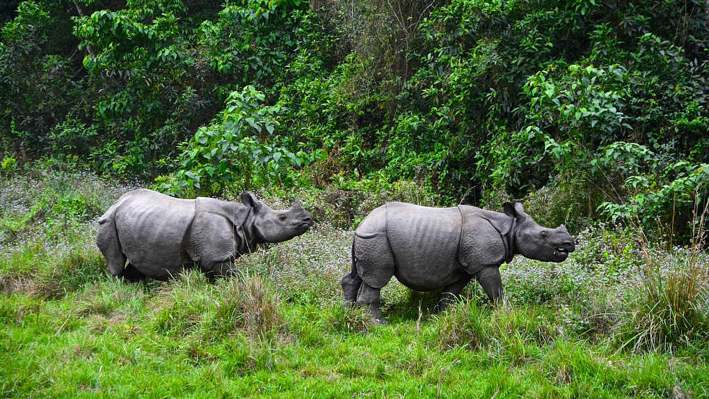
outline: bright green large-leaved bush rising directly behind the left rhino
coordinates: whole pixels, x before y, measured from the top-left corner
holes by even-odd
[[[182,146],[181,169],[161,188],[220,194],[225,187],[245,189],[294,185],[293,170],[322,158],[322,151],[289,151],[274,131],[279,106],[261,106],[264,94],[253,86],[232,92],[227,108],[211,126],[199,129]]]

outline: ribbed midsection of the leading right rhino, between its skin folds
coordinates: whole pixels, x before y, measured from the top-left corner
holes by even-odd
[[[389,209],[386,231],[396,278],[418,291],[438,290],[464,278],[457,261],[461,225],[455,208]]]

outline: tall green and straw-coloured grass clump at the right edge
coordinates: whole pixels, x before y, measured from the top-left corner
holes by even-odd
[[[707,208],[693,220],[691,244],[659,256],[639,234],[645,267],[623,303],[618,338],[632,351],[674,350],[709,339],[709,260],[703,252]]]

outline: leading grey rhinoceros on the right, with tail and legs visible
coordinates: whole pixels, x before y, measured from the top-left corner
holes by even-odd
[[[525,213],[522,202],[505,213],[459,205],[421,207],[390,202],[374,209],[354,231],[352,273],[340,282],[345,301],[367,305],[382,324],[379,291],[396,275],[416,291],[441,290],[441,311],[475,278],[490,300],[503,295],[499,267],[515,254],[562,262],[574,251],[566,227],[547,229]]]

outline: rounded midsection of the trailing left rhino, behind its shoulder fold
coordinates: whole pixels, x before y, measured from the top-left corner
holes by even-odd
[[[194,217],[194,200],[136,190],[116,209],[116,230],[128,261],[144,274],[167,278],[189,261],[184,236]]]

